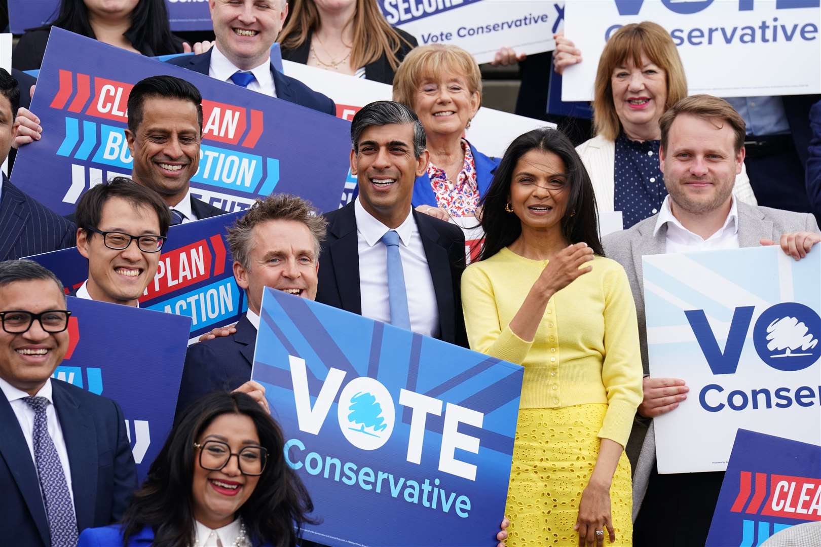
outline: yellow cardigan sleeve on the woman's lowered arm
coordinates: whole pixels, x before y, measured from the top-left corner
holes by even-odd
[[[642,399],[641,352],[635,302],[624,269],[616,262],[603,275],[604,362],[602,382],[608,411],[599,437],[625,446]]]

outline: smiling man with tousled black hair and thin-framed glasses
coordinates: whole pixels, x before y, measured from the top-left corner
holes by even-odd
[[[138,306],[154,279],[171,213],[154,190],[118,176],[77,203],[77,250],[89,259],[81,299]]]

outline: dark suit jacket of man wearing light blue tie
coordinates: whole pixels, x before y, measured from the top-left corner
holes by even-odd
[[[428,259],[439,312],[439,340],[467,348],[461,309],[461,274],[465,270],[465,234],[459,226],[413,210],[424,256]],[[359,245],[354,203],[325,214],[328,239],[319,255],[316,301],[362,315]]]

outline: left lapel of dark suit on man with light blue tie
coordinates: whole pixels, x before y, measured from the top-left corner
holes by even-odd
[[[337,280],[342,309],[362,315],[359,245],[356,240],[356,216],[353,203],[342,207],[329,231],[336,238],[328,244],[328,253],[331,255],[333,276]]]

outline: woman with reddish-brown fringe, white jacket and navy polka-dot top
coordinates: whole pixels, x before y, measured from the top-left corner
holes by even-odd
[[[581,52],[563,34],[557,34],[556,43],[558,72],[581,62]],[[596,136],[576,149],[593,182],[599,211],[621,211],[624,228],[661,209],[667,188],[658,163],[658,119],[686,96],[684,67],[667,30],[644,21],[612,34],[596,71]],[[757,204],[746,171],[736,177],[733,193]]]

